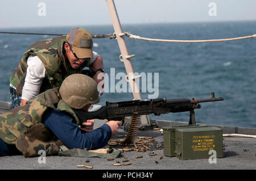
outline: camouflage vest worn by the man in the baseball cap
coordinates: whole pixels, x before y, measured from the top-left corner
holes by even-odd
[[[85,61],[79,69],[73,69],[64,56],[66,36],[54,37],[32,44],[23,54],[22,60],[10,77],[11,84],[16,88],[16,94],[22,95],[25,77],[27,74],[27,59],[29,56],[38,56],[46,69],[40,93],[48,89],[60,87],[63,80],[70,74],[81,73],[89,61]]]

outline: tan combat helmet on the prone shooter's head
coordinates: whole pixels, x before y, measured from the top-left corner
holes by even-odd
[[[59,92],[64,102],[75,109],[100,102],[97,83],[84,74],[69,75],[61,84]]]

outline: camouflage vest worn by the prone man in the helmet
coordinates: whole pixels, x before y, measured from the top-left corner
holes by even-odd
[[[70,113],[79,124],[75,112],[60,99],[59,90],[55,88],[0,115],[0,138],[7,144],[16,144],[24,157],[38,155],[39,150],[46,150],[49,155],[57,154],[63,143],[41,123],[49,107]]]

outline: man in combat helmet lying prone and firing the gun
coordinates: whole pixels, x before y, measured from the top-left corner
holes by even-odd
[[[94,120],[88,120],[80,128],[74,111],[87,111],[98,102],[97,83],[92,78],[69,75],[60,89],[42,92],[27,104],[0,115],[0,155],[21,152],[24,157],[32,157],[39,150],[57,155],[63,145],[68,149],[102,148],[117,133],[121,121],[108,121],[93,130]]]

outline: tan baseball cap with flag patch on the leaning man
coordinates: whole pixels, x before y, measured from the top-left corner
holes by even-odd
[[[73,28],[67,35],[66,40],[72,45],[73,51],[79,58],[92,58],[93,40],[92,35],[84,28]]]

